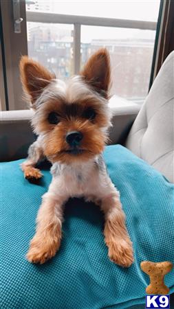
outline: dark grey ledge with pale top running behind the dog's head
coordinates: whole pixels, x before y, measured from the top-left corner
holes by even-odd
[[[113,126],[110,144],[122,143],[140,110],[140,106],[111,107]],[[3,111],[0,120],[0,161],[12,161],[26,157],[28,147],[36,136],[32,133],[30,119],[34,112]]]

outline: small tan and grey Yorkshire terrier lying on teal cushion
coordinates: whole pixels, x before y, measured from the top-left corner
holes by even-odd
[[[21,168],[26,179],[40,179],[36,163],[44,157],[52,163],[52,183],[43,194],[28,261],[43,264],[56,254],[62,238],[63,205],[70,197],[83,196],[100,205],[105,214],[104,236],[110,260],[130,266],[133,248],[120,194],[102,159],[111,125],[107,49],[99,49],[79,76],[66,83],[28,56],[21,58],[20,71],[23,89],[35,111],[32,127],[38,135]]]

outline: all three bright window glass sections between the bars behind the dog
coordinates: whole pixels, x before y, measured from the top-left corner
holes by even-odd
[[[32,4],[34,2],[34,4]],[[160,0],[26,1],[27,12],[70,14],[157,22]],[[51,19],[51,17],[50,17]],[[75,22],[75,21],[74,21]],[[90,23],[90,19],[89,19]],[[147,24],[148,27],[148,24]],[[74,74],[74,25],[28,21],[28,54],[58,78]],[[149,89],[155,30],[81,25],[80,67],[100,47],[111,56],[111,94],[138,104]]]

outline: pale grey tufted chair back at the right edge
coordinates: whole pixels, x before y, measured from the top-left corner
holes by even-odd
[[[126,146],[174,183],[174,52],[164,61]]]

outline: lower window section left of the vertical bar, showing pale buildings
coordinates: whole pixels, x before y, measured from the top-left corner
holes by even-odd
[[[27,23],[28,56],[54,71],[58,78],[73,74],[73,25]]]

